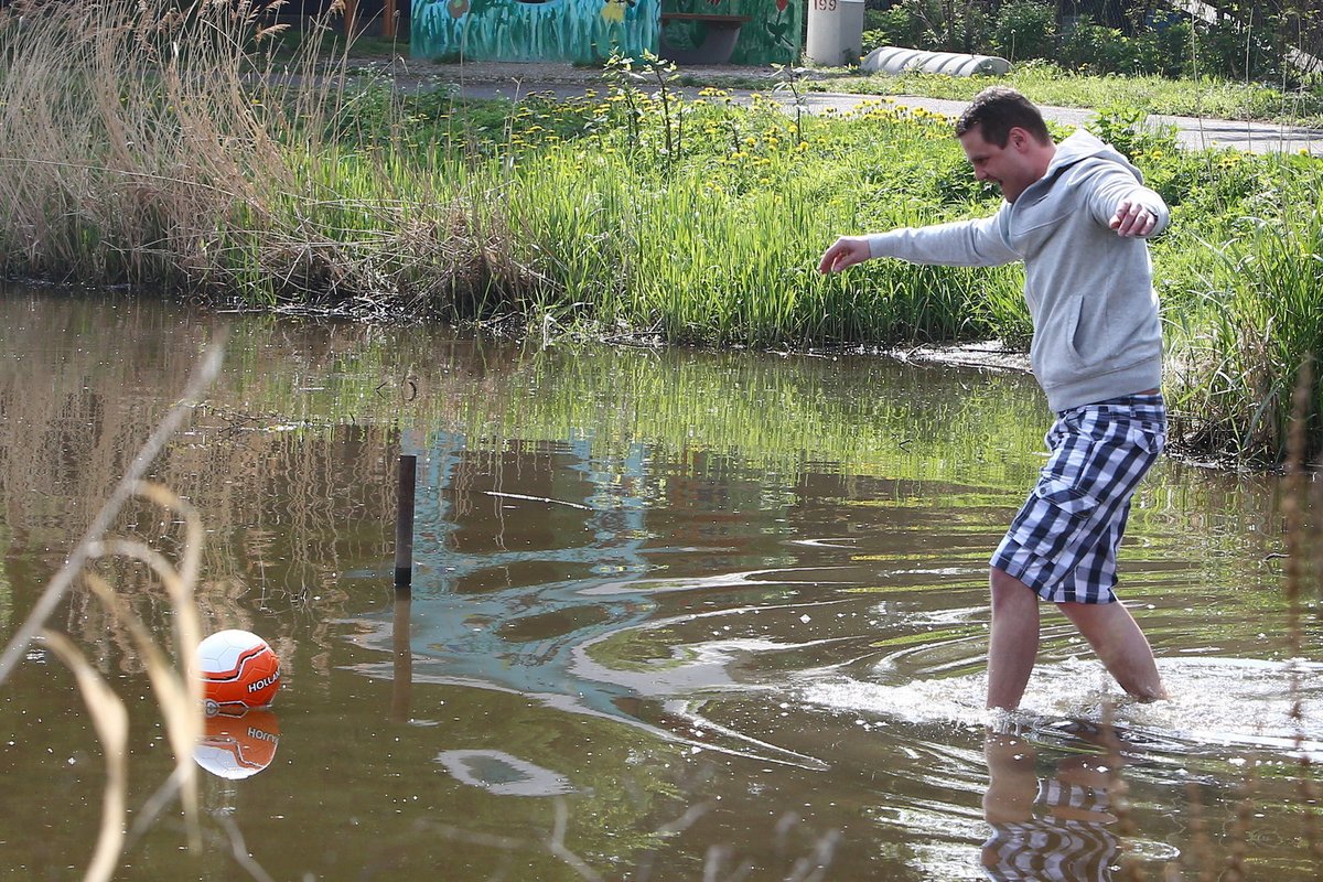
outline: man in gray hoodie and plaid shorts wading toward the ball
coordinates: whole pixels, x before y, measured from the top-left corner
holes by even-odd
[[[987,706],[1019,706],[1039,652],[1039,599],[1056,603],[1121,686],[1166,698],[1152,649],[1117,602],[1117,546],[1130,499],[1162,452],[1162,328],[1147,237],[1162,197],[1085,131],[1053,143],[1039,110],[1002,86],[955,124],[980,181],[1005,201],[972,221],[841,237],[819,272],[869,258],[945,266],[1023,261],[1035,377],[1057,421],[1037,485],[992,555]]]

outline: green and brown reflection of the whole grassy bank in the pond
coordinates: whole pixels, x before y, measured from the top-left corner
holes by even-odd
[[[151,354],[101,364],[90,349],[57,344],[67,353],[58,365],[24,358],[0,377],[0,399],[12,415],[0,423],[0,442],[9,451],[3,463],[12,475],[7,485],[65,488],[73,500],[73,509],[65,510],[54,496],[36,497],[11,517],[16,526],[21,522],[53,540],[50,524],[90,517],[82,510],[85,495],[73,488],[108,489],[118,451],[139,443],[138,427],[153,418],[151,398],[126,402],[122,390],[177,383],[202,328],[155,308],[107,313],[77,300],[32,303],[11,319],[12,333],[22,339],[60,341],[65,328],[93,327],[112,315],[106,333]],[[239,578],[208,591],[217,603],[265,581],[282,591],[298,591],[298,582],[306,581],[333,603],[333,574],[343,571],[347,542],[376,543],[389,557],[386,530],[348,536],[333,524],[345,485],[361,500],[365,522],[392,522],[397,426],[458,432],[470,451],[499,451],[516,439],[577,439],[614,471],[642,450],[650,473],[699,476],[738,468],[777,475],[786,487],[806,475],[837,473],[847,476],[847,492],[855,476],[905,480],[925,496],[938,495],[943,505],[958,505],[958,517],[967,512],[976,518],[987,508],[1000,522],[1039,464],[1035,452],[1048,422],[1027,378],[980,376],[967,383],[957,372],[869,357],[785,360],[595,346],[537,353],[422,329],[382,335],[352,325],[295,328],[269,319],[243,320],[232,350],[230,373],[196,415],[196,434],[169,451],[160,472],[173,487],[205,493],[196,501],[217,512],[209,521],[247,524],[234,533],[234,554],[208,551],[209,574]],[[415,397],[405,378],[417,385]],[[34,387],[53,394],[33,395]],[[283,424],[299,428],[267,431]],[[32,438],[42,440],[34,444]],[[48,448],[69,451],[77,465],[42,456]],[[341,456],[353,463],[353,475],[337,475]],[[970,487],[972,473],[990,487]],[[1199,545],[1192,559],[1220,567],[1217,578],[1234,583],[1244,581],[1238,555],[1263,553],[1250,540],[1271,541],[1271,521],[1258,510],[1266,497],[1252,481],[1228,491],[1221,484],[1177,480],[1152,487],[1144,491],[1152,499],[1134,517],[1136,530],[1146,530],[1151,518],[1154,533],[1183,536],[1181,547]],[[905,488],[898,492],[904,500]],[[282,510],[254,505],[263,499],[282,500]],[[857,504],[886,508],[904,501]],[[1189,522],[1176,522],[1177,514]],[[974,520],[970,529],[978,529]],[[307,542],[286,547],[279,537],[291,530]],[[302,575],[286,584],[277,578],[282,573]],[[1271,598],[1242,592],[1240,600]],[[1216,628],[1216,621],[1208,625]]]

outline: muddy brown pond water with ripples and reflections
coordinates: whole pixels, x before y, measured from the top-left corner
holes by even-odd
[[[986,558],[1048,422],[1017,376],[11,291],[0,635],[221,329],[222,376],[153,477],[205,526],[208,629],[265,636],[284,682],[271,710],[209,723],[189,852],[175,804],[148,812],[171,756],[140,655],[83,590],[61,606],[52,625],[130,714],[118,878],[1323,866],[1304,787],[1323,758],[1320,627],[1306,610],[1293,661],[1270,479],[1167,460],[1140,492],[1122,592],[1172,701],[1125,702],[1046,614],[1025,711],[988,733]],[[392,590],[401,454],[418,456],[407,603]],[[171,558],[184,543],[146,502],[115,533]],[[140,563],[97,569],[169,639]],[[0,875],[81,878],[102,750],[41,645],[0,686]]]

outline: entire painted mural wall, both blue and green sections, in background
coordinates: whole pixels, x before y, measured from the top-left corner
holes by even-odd
[[[601,63],[613,50],[658,53],[668,45],[703,45],[706,26],[662,24],[662,12],[747,16],[730,63],[795,63],[804,0],[415,0],[410,53],[417,58],[468,61],[569,61]]]

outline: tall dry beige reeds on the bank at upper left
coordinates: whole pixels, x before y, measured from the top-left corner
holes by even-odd
[[[491,287],[501,237],[482,194],[337,149],[355,94],[319,61],[327,21],[290,57],[267,11],[0,12],[0,268],[359,312]]]

